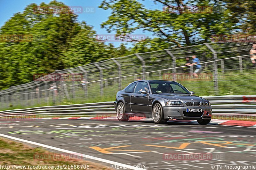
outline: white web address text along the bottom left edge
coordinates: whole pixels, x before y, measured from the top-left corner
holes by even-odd
[[[0,165],[0,169],[90,169],[89,165]]]

